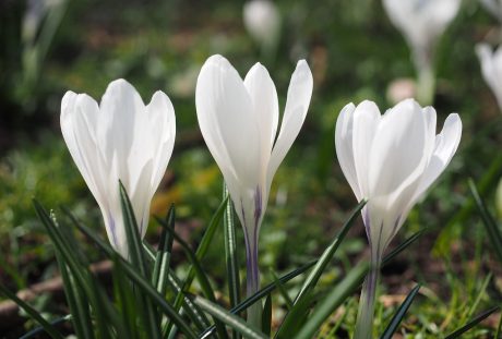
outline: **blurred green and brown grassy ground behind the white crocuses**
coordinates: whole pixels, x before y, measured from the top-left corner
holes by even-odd
[[[172,100],[175,152],[152,213],[163,216],[175,203],[178,229],[198,241],[222,196],[222,175],[200,135],[194,105],[199,70],[214,53],[225,56],[242,76],[254,62],[262,62],[275,82],[282,109],[297,60],[307,59],[311,66],[314,92],[309,114],[275,175],[262,227],[263,279],[271,280],[270,269],[285,271],[322,252],[356,205],[336,161],[337,114],[346,104],[363,99],[376,101],[382,111],[392,107],[389,86],[415,76],[409,51],[380,1],[275,1],[282,29],[276,48],[268,51],[247,33],[243,4],[235,0],[0,2],[1,283],[22,289],[56,274],[51,245],[32,208],[33,197],[56,210],[69,207],[84,222],[103,229],[97,204],[63,143],[60,102],[70,89],[99,100],[108,83],[118,77],[132,83],[146,102],[157,89]],[[467,187],[467,179],[473,178],[495,213],[502,116],[474,51],[477,43],[493,39],[495,25],[478,1],[465,0],[438,46],[439,125],[449,113],[459,112],[463,140],[394,245],[422,228],[428,228],[427,235],[383,273],[381,293],[389,300],[406,294],[414,281],[425,284],[425,298],[414,304],[408,326],[426,336],[462,324],[466,305],[478,295],[479,310],[489,301],[502,301],[502,269]],[[147,234],[152,243],[158,231],[152,222]],[[344,267],[366,255],[366,244],[359,225],[343,244],[325,288]],[[99,259],[92,249],[89,255]],[[181,256],[178,263],[182,270]],[[225,293],[225,263],[217,244],[205,265]],[[493,277],[482,289],[488,275]],[[387,307],[380,308],[380,319],[392,315],[396,303],[389,300],[389,305],[382,301]],[[277,317],[282,310],[278,302]],[[349,315],[348,323],[354,317]],[[492,323],[486,322],[473,335],[490,331],[497,319]]]

